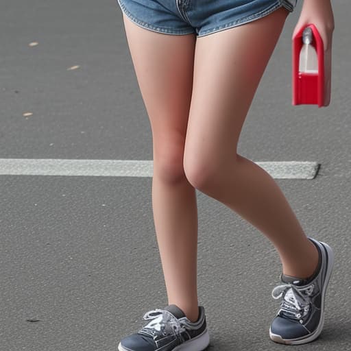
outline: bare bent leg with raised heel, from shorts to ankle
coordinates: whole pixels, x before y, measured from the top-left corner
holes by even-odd
[[[184,169],[193,186],[267,236],[284,274],[306,278],[317,267],[315,246],[269,173],[237,154],[243,122],[286,16],[280,8],[252,23],[197,38]]]

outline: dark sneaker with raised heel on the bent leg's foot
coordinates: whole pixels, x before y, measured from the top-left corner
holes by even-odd
[[[269,337],[277,343],[298,345],[316,339],[324,324],[324,296],[332,273],[334,254],[326,243],[311,240],[319,251],[319,270],[306,282],[300,278],[280,275],[284,285],[271,293],[274,299],[282,297],[280,310],[271,326]]]

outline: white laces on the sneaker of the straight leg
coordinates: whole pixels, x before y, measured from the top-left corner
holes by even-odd
[[[155,310],[145,313],[143,319],[152,319],[146,326],[138,331],[139,334],[149,335],[154,339],[165,337],[167,335],[179,335],[182,339],[181,332],[185,327],[179,319],[175,318],[169,311],[156,308]]]

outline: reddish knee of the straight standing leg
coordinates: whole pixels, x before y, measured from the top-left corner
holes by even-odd
[[[182,147],[166,147],[154,154],[154,176],[168,184],[186,180]]]

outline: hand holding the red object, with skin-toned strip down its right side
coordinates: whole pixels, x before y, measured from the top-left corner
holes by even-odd
[[[298,23],[292,38],[308,24],[317,28],[324,47],[324,106],[330,104],[332,33],[334,32],[334,15],[330,0],[304,0]]]

